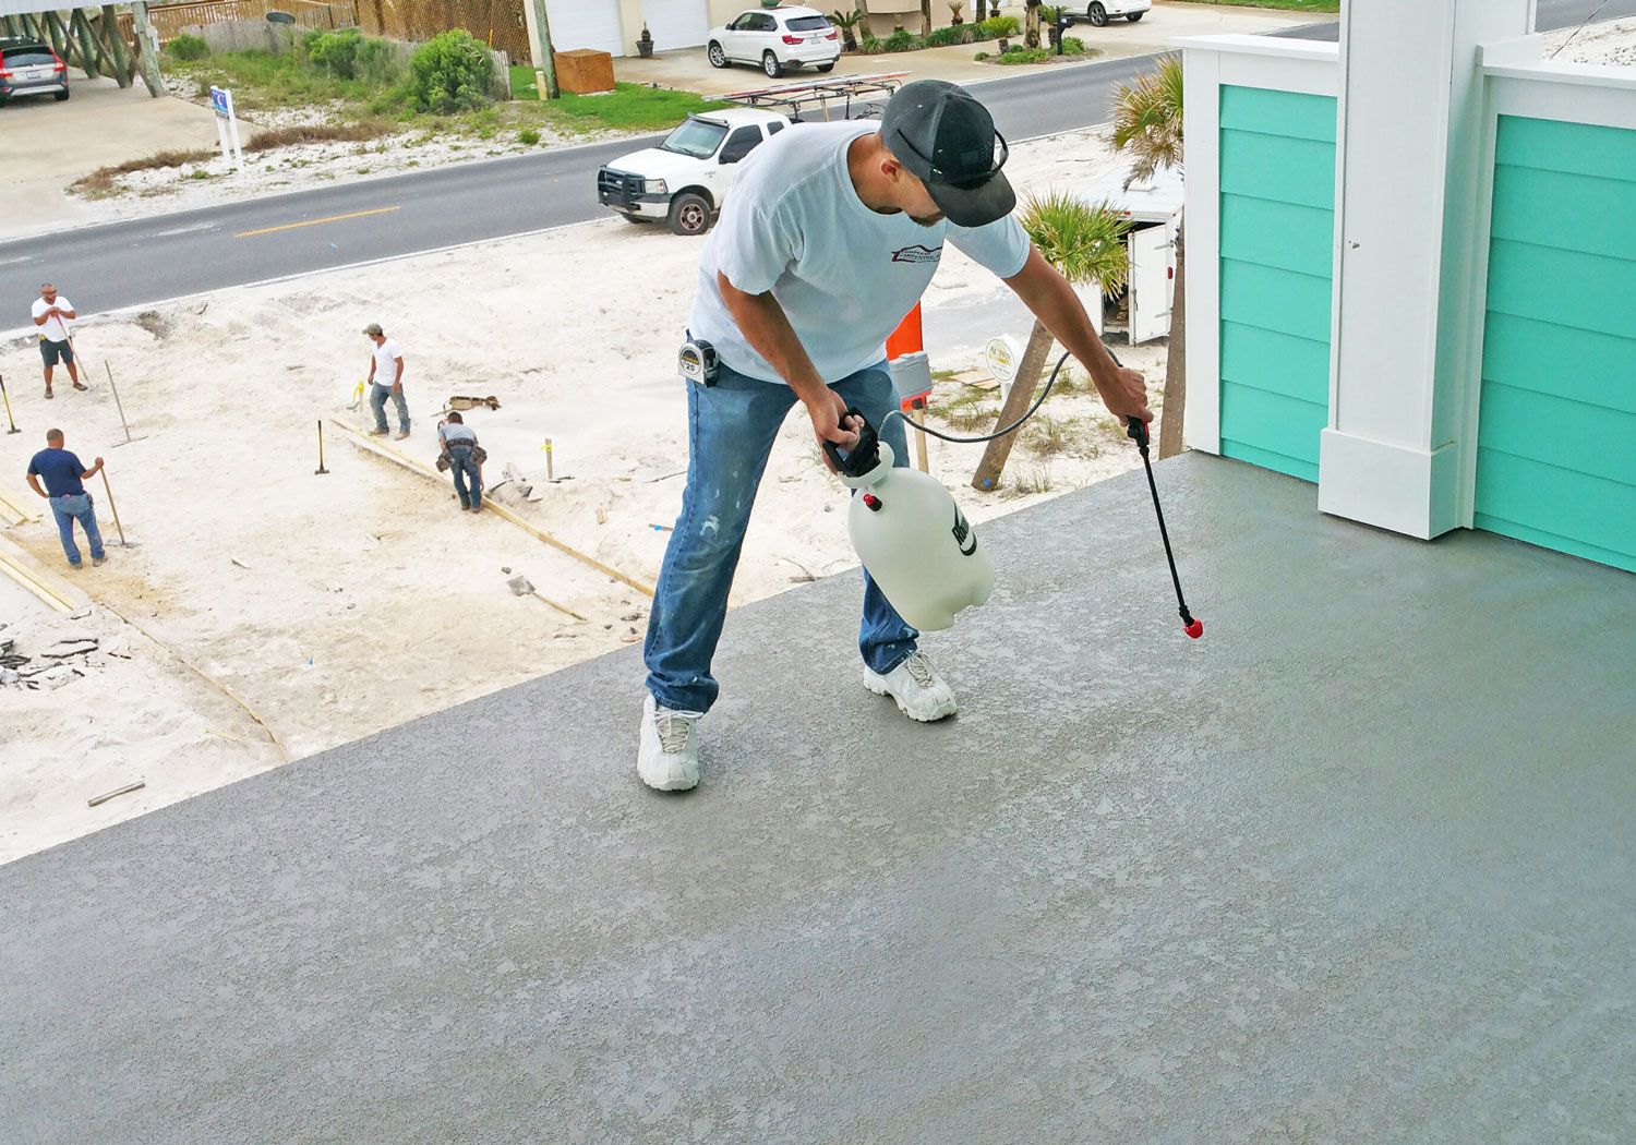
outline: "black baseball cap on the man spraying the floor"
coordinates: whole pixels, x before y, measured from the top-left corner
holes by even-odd
[[[1009,149],[988,108],[947,80],[900,87],[880,116],[880,139],[944,213],[962,227],[1011,214],[1016,191],[1000,173]]]

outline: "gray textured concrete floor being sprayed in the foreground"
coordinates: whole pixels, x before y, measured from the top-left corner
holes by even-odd
[[[985,528],[957,721],[839,577],[692,795],[631,649],[0,869],[3,1137],[1636,1140],[1636,577],[1160,479],[1199,643],[1137,473]]]

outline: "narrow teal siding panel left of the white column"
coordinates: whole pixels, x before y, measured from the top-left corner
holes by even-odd
[[[1222,455],[1319,479],[1328,424],[1335,100],[1220,93]]]

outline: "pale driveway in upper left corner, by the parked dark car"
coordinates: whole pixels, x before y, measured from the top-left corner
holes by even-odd
[[[185,100],[152,98],[136,83],[70,82],[72,98],[0,106],[0,236],[70,226],[92,211],[64,188],[98,167],[160,150],[216,147],[216,116]]]

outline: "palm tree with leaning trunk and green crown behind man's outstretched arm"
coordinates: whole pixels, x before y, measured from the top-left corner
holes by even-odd
[[[1091,206],[1081,198],[1067,191],[1047,191],[1044,196],[1029,196],[1018,216],[1027,237],[1052,267],[1073,285],[1096,283],[1103,294],[1117,294],[1124,290],[1129,273],[1129,255],[1126,254],[1124,236],[1130,222],[1111,209],[1106,203]],[[1000,420],[995,429],[1009,425],[1022,415],[1034,401],[1034,389],[1040,375],[1045,373],[1045,357],[1050,353],[1054,339],[1042,322],[1034,321],[1022,361],[1018,363],[1018,376],[1011,381],[1011,393],[1006,394],[1000,409]],[[1000,486],[1000,471],[1006,468],[1011,455],[1011,443],[1016,433],[1006,433],[988,443],[983,460],[972,478],[972,487],[990,491]]]

